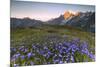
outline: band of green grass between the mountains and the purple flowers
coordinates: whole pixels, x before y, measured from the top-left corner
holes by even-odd
[[[95,34],[81,31],[68,26],[42,26],[39,28],[25,28],[11,30],[11,46],[16,45],[31,45],[32,43],[47,42],[46,37],[56,35],[62,37],[67,36],[65,40],[79,38],[81,41],[87,41],[89,46],[95,47]],[[61,38],[63,39],[63,38]]]

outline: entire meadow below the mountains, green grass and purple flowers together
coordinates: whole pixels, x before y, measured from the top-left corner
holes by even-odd
[[[94,61],[94,33],[67,26],[11,30],[11,67]]]

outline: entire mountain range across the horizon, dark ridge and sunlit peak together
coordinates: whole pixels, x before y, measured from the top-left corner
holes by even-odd
[[[30,18],[11,18],[11,28],[39,27],[45,24],[67,25],[88,32],[95,32],[95,12],[66,11],[63,15],[46,22]]]

